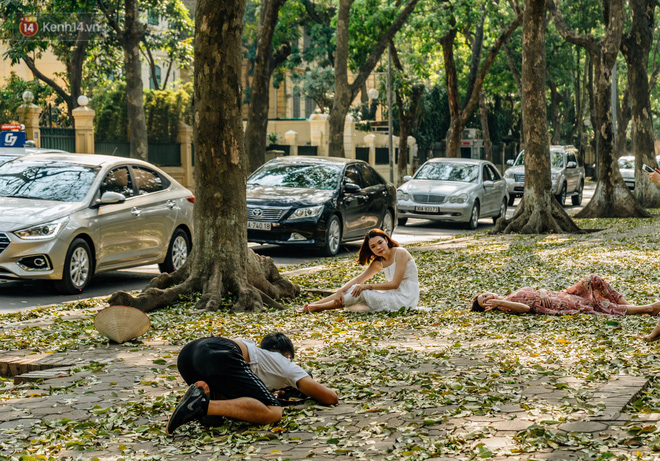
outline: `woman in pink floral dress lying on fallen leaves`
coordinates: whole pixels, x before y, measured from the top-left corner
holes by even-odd
[[[633,306],[605,280],[597,275],[590,275],[562,291],[525,287],[505,297],[495,293],[481,293],[472,299],[472,311],[492,309],[507,314],[657,315],[660,312],[660,301]],[[658,335],[660,336],[660,331]]]

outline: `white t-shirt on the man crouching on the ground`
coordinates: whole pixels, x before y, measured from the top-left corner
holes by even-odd
[[[261,379],[269,390],[288,386],[297,388],[296,383],[306,376],[305,370],[279,352],[264,350],[249,339],[236,338],[245,344],[250,355],[250,369]]]

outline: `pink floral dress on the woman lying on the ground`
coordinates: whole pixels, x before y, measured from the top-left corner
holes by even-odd
[[[546,296],[543,296],[543,295]],[[562,291],[542,293],[534,288],[524,287],[505,297],[507,301],[526,304],[531,314],[569,315],[625,315],[628,309],[623,295],[597,275],[583,278],[570,288]],[[508,308],[502,312],[513,314]]]

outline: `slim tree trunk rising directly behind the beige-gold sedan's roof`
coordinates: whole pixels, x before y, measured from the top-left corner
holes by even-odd
[[[121,40],[126,68],[126,115],[129,120],[128,137],[131,143],[131,157],[149,159],[147,142],[147,121],[144,115],[142,93],[142,63],[140,62],[140,41],[142,28],[137,0],[125,0],[125,31]]]

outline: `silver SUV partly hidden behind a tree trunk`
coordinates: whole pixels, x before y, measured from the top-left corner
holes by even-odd
[[[511,168],[504,172],[509,191],[509,205],[516,197],[522,197],[525,189],[525,151],[518,154],[515,162],[509,160]],[[566,197],[571,196],[575,206],[582,204],[584,191],[584,162],[578,150],[573,146],[550,146],[550,174],[552,193],[564,206]]]

